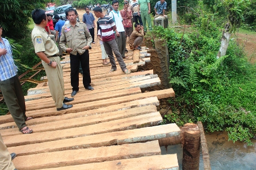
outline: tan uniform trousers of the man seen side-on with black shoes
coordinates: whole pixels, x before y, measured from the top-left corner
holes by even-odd
[[[57,108],[61,108],[63,105],[63,99],[65,98],[65,89],[64,89],[64,80],[63,80],[63,71],[59,56],[48,57],[52,62],[57,63],[57,67],[53,68],[45,61],[42,60],[42,65],[45,68],[48,85],[51,93],[51,97],[55,102]]]

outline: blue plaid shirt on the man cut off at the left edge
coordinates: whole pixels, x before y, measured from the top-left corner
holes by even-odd
[[[11,45],[7,39],[2,38],[2,40],[3,43],[0,42],[0,48],[5,48],[7,53],[0,56],[0,81],[16,76],[18,72],[18,68],[14,64]]]

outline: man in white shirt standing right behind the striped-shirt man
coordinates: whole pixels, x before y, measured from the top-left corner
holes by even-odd
[[[129,56],[125,56],[125,50],[127,50],[126,35],[125,35],[125,28],[123,28],[123,23],[122,23],[123,19],[120,12],[118,11],[118,7],[119,7],[118,0],[112,1],[112,6],[114,10],[109,13],[109,16],[113,18],[115,22],[115,26],[117,27],[117,30],[115,30],[115,39],[117,40],[118,49],[123,59],[129,59]]]

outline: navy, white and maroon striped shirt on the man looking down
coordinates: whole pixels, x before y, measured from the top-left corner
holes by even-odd
[[[109,15],[105,15],[103,18],[99,18],[99,27],[102,30],[102,42],[109,42],[115,39],[113,27],[115,22]]]

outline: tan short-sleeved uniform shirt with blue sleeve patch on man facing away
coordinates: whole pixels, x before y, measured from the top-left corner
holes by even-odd
[[[45,28],[35,26],[31,33],[31,39],[35,48],[35,53],[45,52],[47,57],[59,53],[57,45],[51,40],[50,36],[45,31]]]

